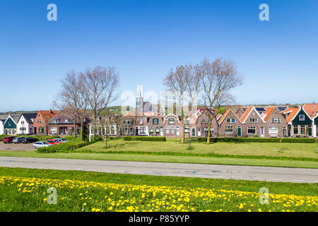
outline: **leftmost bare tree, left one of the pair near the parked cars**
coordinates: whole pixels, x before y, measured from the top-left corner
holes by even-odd
[[[83,121],[88,107],[85,93],[86,87],[81,80],[80,74],[71,70],[66,73],[65,78],[61,81],[61,90],[54,101],[55,106],[73,117],[74,137],[76,136],[76,123],[80,123],[82,139]]]

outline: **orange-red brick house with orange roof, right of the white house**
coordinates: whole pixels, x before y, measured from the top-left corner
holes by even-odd
[[[38,111],[37,117],[33,121],[33,134],[47,135],[49,133],[49,120],[59,114],[59,111],[49,109],[48,111]]]

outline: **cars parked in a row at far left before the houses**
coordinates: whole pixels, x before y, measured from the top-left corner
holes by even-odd
[[[4,143],[34,143],[33,148],[35,149],[47,147],[49,145],[57,145],[60,143],[68,142],[64,138],[54,138],[47,141],[39,141],[39,139],[34,137],[23,137],[23,136],[19,136],[19,137],[8,136],[3,138],[2,141]]]

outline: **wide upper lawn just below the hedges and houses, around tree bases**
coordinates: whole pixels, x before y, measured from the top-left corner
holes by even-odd
[[[192,142],[194,147],[188,150],[187,143],[180,143],[180,139],[170,138],[167,141],[107,141],[109,148],[104,148],[103,141],[93,143],[79,150],[92,150],[96,152],[152,152],[152,153],[186,153],[197,154],[220,154],[220,155],[249,155],[269,157],[306,157],[318,158],[314,143],[282,143],[283,152],[278,152],[279,143],[225,143],[218,142],[206,144]]]

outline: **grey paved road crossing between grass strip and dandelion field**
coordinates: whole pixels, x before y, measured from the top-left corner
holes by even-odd
[[[318,183],[318,169],[283,167],[69,160],[37,157],[0,157],[0,166],[214,179],[246,179],[268,182]]]

